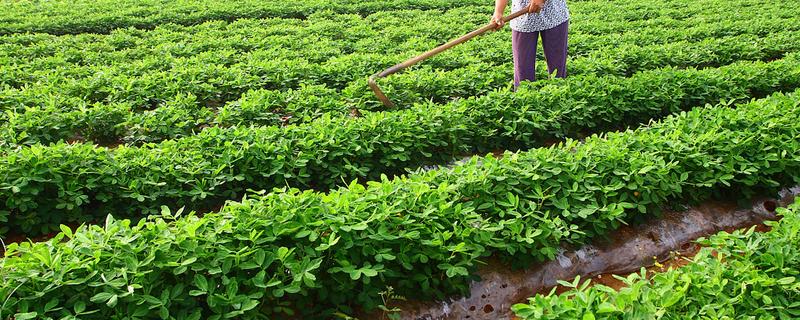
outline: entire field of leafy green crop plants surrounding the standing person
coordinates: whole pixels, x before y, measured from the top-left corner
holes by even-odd
[[[514,90],[505,28],[381,79],[385,107],[369,75],[492,1],[0,0],[0,319],[397,318],[489,258],[800,184],[800,2],[568,2],[566,79],[540,57]],[[797,317],[798,210],[503,312]]]

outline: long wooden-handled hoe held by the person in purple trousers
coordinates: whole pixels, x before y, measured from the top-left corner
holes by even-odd
[[[528,9],[524,8],[524,9],[522,9],[520,11],[512,13],[509,16],[504,17],[503,21],[508,23],[509,21],[514,20],[517,17],[519,17],[519,16],[521,16],[523,14],[526,14],[526,13],[528,13]],[[447,42],[447,43],[445,43],[445,44],[443,44],[441,46],[438,46],[438,47],[436,47],[436,48],[434,48],[434,49],[432,49],[432,50],[430,50],[428,52],[425,52],[425,53],[423,53],[421,55],[418,55],[418,56],[416,56],[414,58],[408,59],[405,62],[399,63],[399,64],[397,64],[397,65],[395,65],[395,66],[393,66],[393,67],[391,67],[389,69],[386,69],[386,70],[383,70],[381,72],[378,72],[378,73],[376,73],[376,74],[374,74],[374,75],[369,77],[369,87],[372,88],[372,91],[375,92],[375,96],[378,97],[378,100],[380,100],[383,103],[383,105],[385,105],[387,107],[392,107],[392,106],[394,106],[394,103],[392,103],[392,101],[389,100],[389,98],[386,97],[386,94],[383,93],[383,90],[381,90],[381,87],[378,86],[378,82],[377,82],[378,79],[385,78],[385,77],[388,77],[389,75],[392,75],[392,74],[395,74],[397,72],[400,72],[403,69],[406,69],[406,68],[408,68],[410,66],[413,66],[413,65],[415,65],[415,64],[417,64],[417,63],[419,63],[421,61],[424,61],[424,60],[426,60],[426,59],[428,59],[430,57],[433,57],[433,56],[435,56],[435,55],[437,55],[439,53],[442,53],[443,51],[446,51],[447,49],[450,49],[450,48],[455,47],[455,46],[457,46],[459,44],[467,42],[467,40],[470,40],[470,39],[475,38],[475,37],[477,37],[479,35],[482,35],[482,34],[488,32],[488,31],[490,31],[490,30],[492,30],[494,28],[495,28],[495,25],[493,23],[486,24],[485,26],[481,27],[480,29],[477,29],[475,31],[467,33],[467,34],[465,34],[465,35],[463,35],[463,36],[461,36],[461,37],[459,37],[457,39],[450,40],[449,42]]]

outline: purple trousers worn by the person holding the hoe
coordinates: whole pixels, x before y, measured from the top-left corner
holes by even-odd
[[[514,87],[522,81],[536,80],[536,46],[539,34],[542,35],[547,72],[558,78],[567,77],[567,33],[569,21],[537,32],[511,32],[511,46],[514,50]]]

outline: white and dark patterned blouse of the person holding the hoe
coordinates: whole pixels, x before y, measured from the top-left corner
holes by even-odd
[[[528,6],[531,0],[512,0],[511,12]],[[529,13],[511,20],[511,29],[519,32],[534,32],[552,29],[569,20],[566,0],[545,0],[539,13]]]

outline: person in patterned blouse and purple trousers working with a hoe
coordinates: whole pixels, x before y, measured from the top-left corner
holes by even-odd
[[[495,0],[491,23],[503,27],[503,10],[508,0]],[[558,78],[567,76],[567,30],[569,10],[566,0],[512,0],[512,12],[527,6],[528,14],[511,20],[511,46],[514,51],[514,87],[521,81],[536,80],[536,42],[542,35],[547,71]]]

